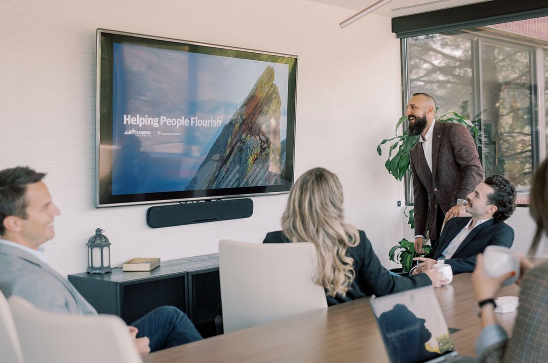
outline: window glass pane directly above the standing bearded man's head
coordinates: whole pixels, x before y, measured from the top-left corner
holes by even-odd
[[[438,115],[448,111],[470,118],[472,58],[470,39],[430,34],[408,39],[410,94],[432,95]]]

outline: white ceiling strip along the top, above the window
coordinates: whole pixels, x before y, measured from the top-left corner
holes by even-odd
[[[316,3],[332,5],[339,8],[352,9],[360,12],[361,10],[373,5],[379,0],[309,0]],[[383,7],[375,10],[377,15],[397,16],[431,12],[433,10],[458,7],[473,3],[482,3],[492,0],[392,0]]]

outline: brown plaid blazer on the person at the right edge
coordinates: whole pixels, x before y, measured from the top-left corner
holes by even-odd
[[[524,275],[512,338],[488,347],[481,362],[548,362],[548,262]]]

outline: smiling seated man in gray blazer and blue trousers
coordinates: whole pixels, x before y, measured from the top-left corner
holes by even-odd
[[[45,174],[16,167],[0,171],[0,290],[55,313],[97,312],[68,280],[46,262],[39,248],[54,237],[53,204]],[[139,353],[202,339],[189,317],[174,307],[159,307],[128,327]]]

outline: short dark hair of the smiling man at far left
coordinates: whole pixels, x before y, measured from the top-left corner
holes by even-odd
[[[27,184],[37,183],[44,176],[45,173],[37,173],[29,167],[21,166],[0,171],[0,236],[5,233],[5,217],[15,215],[27,218]]]

